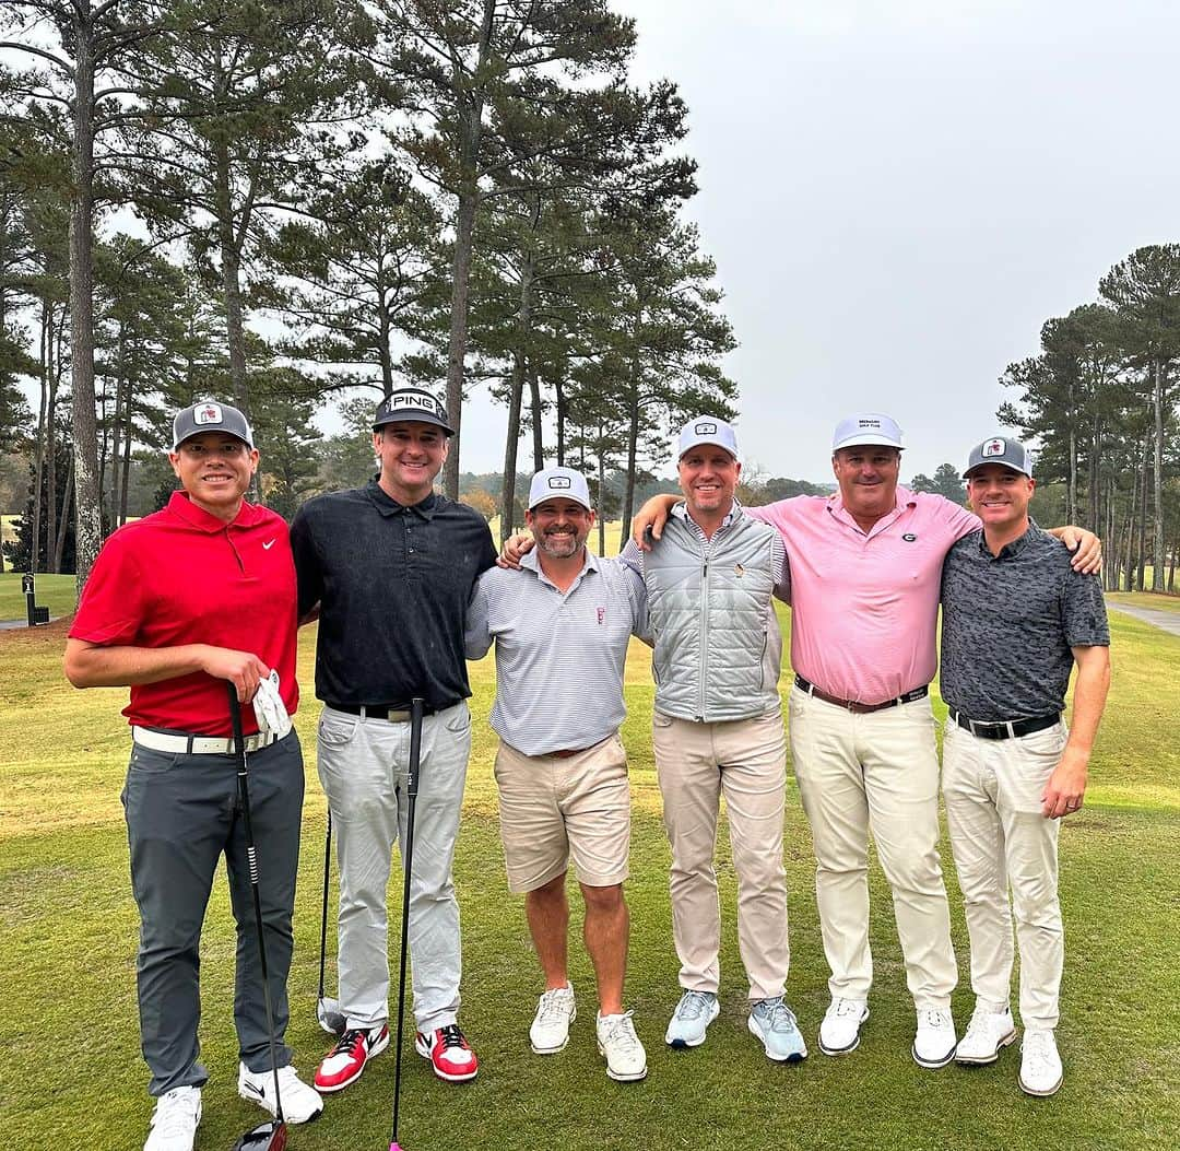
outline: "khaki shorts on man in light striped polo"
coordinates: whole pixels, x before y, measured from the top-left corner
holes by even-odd
[[[544,887],[570,861],[586,887],[627,878],[631,794],[617,733],[564,759],[524,756],[502,743],[496,784],[510,891]]]

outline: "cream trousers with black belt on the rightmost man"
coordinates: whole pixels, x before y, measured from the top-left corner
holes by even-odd
[[[1067,738],[1064,724],[1018,739],[978,739],[948,721],[943,740],[943,796],[971,939],[971,988],[983,1006],[1008,1006],[1015,910],[1021,1020],[1034,1028],[1057,1026],[1066,954],[1060,820],[1041,813],[1041,796]]]

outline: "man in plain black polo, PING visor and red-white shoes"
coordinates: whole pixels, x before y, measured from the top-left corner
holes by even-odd
[[[496,562],[484,518],[433,491],[453,434],[428,392],[401,388],[373,421],[381,471],[366,488],[308,501],[291,524],[300,617],[319,604],[320,780],[337,829],[339,981],[346,1031],[315,1075],[341,1091],[389,1044],[386,888],[406,832],[409,700],[426,700],[409,901],[418,1053],[473,1079],[458,1026],[459,907],[451,864],[471,750],[464,628]]]

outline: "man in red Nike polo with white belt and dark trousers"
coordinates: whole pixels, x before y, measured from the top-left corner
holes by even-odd
[[[275,672],[288,715],[299,704],[295,567],[283,519],[244,501],[258,466],[250,426],[237,408],[203,401],[177,414],[172,432],[183,490],[106,542],[65,655],[76,687],[131,687],[123,805],[140,917],[139,1028],[157,1099],[144,1151],[191,1151],[201,1121],[198,948],[223,854],[237,918],[238,1093],[276,1111],[225,681],[245,704]],[[243,721],[280,1091],[287,1121],[304,1123],[323,1104],[282,1041],[303,759],[288,724],[280,738],[260,731],[250,708]]]

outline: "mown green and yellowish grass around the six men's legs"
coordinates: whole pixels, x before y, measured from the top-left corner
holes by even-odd
[[[827,1003],[813,862],[798,792],[787,803],[791,884],[789,998],[813,1048],[801,1066],[769,1064],[745,1026],[733,870],[723,846],[722,1012],[707,1045],[671,1052],[663,1027],[675,1002],[676,960],[668,902],[668,848],[651,760],[650,675],[636,647],[628,668],[635,799],[632,943],[628,1002],[649,1053],[642,1084],[607,1079],[592,1039],[589,964],[571,931],[581,1014],[569,1048],[540,1059],[526,1031],[539,992],[519,900],[504,881],[487,728],[492,663],[473,668],[477,747],[468,776],[457,884],[464,915],[463,1022],[481,1060],[463,1087],[406,1061],[401,1142],[411,1151],[450,1146],[539,1149],[1165,1149],[1180,1111],[1175,962],[1180,907],[1180,693],[1171,686],[1180,639],[1113,619],[1115,687],[1100,735],[1084,811],[1062,829],[1067,924],[1063,1024],[1067,1079],[1032,1100],[1016,1087],[1018,1054],[991,1068],[926,1072],[909,1055],[912,1008],[904,986],[887,889],[872,874],[876,986],[860,1049],[827,1059],[814,1049]],[[0,1130],[14,1146],[137,1149],[151,1103],[138,1051],[136,910],[127,881],[118,793],[125,769],[123,689],[73,691],[60,676],[64,627],[0,635],[0,951],[7,1008],[0,1019]],[[303,635],[301,679],[312,682],[313,633]],[[939,709],[940,708],[940,705]],[[299,715],[314,746],[317,706]],[[296,1062],[310,1071],[326,1046],[315,1024],[319,887],[324,805],[308,764],[304,850],[291,972]],[[961,987],[970,1012],[966,936],[951,891]],[[263,858],[262,865],[266,866]],[[396,887],[396,884],[395,884]],[[396,891],[391,892],[396,914]],[[575,909],[577,898],[572,900]],[[577,918],[577,914],[575,913]],[[260,1112],[237,1098],[230,1020],[232,929],[225,887],[216,887],[203,943],[204,1059],[212,1078],[198,1151],[229,1147]],[[393,1059],[329,1099],[317,1123],[294,1129],[291,1146],[385,1149]]]

